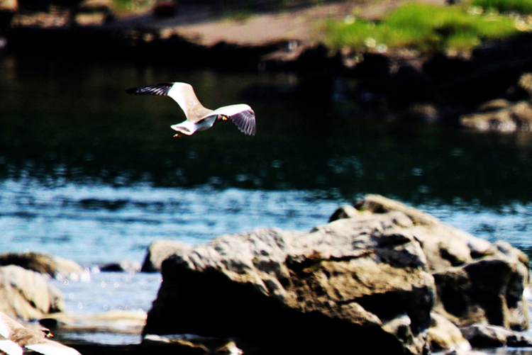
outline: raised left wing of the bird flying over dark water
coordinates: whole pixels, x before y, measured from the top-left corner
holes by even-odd
[[[204,108],[201,105],[192,85],[187,83],[162,83],[149,86],[143,86],[140,88],[127,89],[128,94],[135,95],[160,95],[170,96],[174,99],[179,107],[182,108],[184,115],[187,116],[187,120],[197,122],[203,115],[211,112],[208,108]]]

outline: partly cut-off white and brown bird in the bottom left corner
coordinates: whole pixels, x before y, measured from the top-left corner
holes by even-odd
[[[50,330],[40,327],[28,329],[0,312],[0,351],[7,355],[22,355],[23,347],[44,355],[81,355],[71,348],[47,338],[53,337]]]

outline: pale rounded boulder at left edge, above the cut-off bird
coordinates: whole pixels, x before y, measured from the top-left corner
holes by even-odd
[[[10,265],[0,267],[0,312],[21,320],[65,310],[61,291],[43,274]]]

